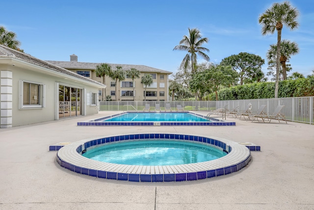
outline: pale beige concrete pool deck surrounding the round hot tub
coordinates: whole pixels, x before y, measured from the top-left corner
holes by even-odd
[[[206,115],[206,112],[200,112]],[[113,112],[0,129],[1,210],[313,210],[314,125],[235,121],[236,126],[76,126]],[[232,174],[183,182],[130,182],[61,168],[49,146],[107,134],[205,134],[252,142],[249,165]]]

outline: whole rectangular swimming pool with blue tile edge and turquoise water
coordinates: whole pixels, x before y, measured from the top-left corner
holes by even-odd
[[[207,118],[192,112],[125,112],[91,121],[78,122],[79,126],[140,125],[140,126],[180,126],[180,125],[235,125],[235,122]]]

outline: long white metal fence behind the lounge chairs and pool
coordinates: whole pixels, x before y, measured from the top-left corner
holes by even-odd
[[[145,104],[150,104],[151,111],[155,110],[156,104],[164,110],[166,103],[170,104],[173,111],[177,110],[177,105],[184,107],[185,111],[210,111],[225,107],[232,109],[238,106],[239,111],[243,110],[247,104],[252,104],[252,112],[258,110],[261,105],[267,105],[267,113],[273,113],[278,105],[285,105],[282,110],[286,119],[295,122],[314,123],[314,97],[295,98],[265,98],[246,100],[226,100],[226,101],[100,101],[100,111],[143,111]]]

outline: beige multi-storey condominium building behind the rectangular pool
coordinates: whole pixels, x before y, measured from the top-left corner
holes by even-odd
[[[101,63],[78,62],[78,56],[74,54],[70,56],[70,61],[47,61],[94,81],[103,83],[103,78],[97,77],[95,73],[96,66]],[[116,84],[115,80],[109,76],[105,76],[106,88],[98,90],[98,97],[100,101],[105,100],[105,95],[110,95],[111,100],[117,101],[132,101],[133,99],[135,101],[142,101],[145,100],[145,98],[147,101],[169,100],[168,76],[172,74],[172,72],[145,65],[108,64],[113,70],[116,69],[116,66],[121,66],[125,71],[135,68],[140,72],[140,78],[134,79],[133,82],[130,76],[125,74],[125,80],[118,81],[118,84]],[[147,86],[146,91],[145,86],[141,84],[141,77],[145,74],[150,74],[153,77],[153,84],[151,86]]]

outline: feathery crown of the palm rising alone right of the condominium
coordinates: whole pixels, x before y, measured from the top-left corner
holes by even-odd
[[[196,54],[204,60],[209,61],[209,56],[204,53],[204,51],[209,52],[209,49],[202,47],[204,43],[208,42],[208,38],[202,38],[201,32],[198,29],[188,28],[188,31],[189,35],[184,35],[183,39],[179,42],[180,45],[175,46],[173,50],[187,51],[180,67],[185,72],[187,67],[191,66],[191,73],[193,74],[197,65]]]

